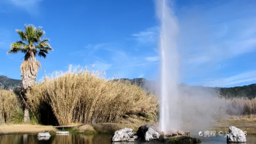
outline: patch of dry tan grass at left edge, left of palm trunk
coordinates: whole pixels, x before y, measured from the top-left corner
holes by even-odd
[[[0,90],[0,123],[11,122],[20,113],[20,102],[14,92]]]

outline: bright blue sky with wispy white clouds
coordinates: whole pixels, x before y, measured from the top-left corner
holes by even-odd
[[[44,74],[85,67],[106,78],[157,79],[154,0],[0,0],[0,75],[20,79],[23,54],[6,52],[15,29],[42,26],[54,51],[38,58]],[[236,86],[256,83],[256,1],[176,0],[182,82]]]

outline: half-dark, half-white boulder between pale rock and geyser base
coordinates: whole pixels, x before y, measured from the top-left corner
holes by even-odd
[[[158,140],[160,137],[160,133],[148,124],[139,127],[137,135],[144,141]]]

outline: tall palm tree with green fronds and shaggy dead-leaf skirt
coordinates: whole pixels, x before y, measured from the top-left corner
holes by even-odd
[[[53,49],[47,43],[49,39],[43,39],[45,32],[40,26],[36,28],[33,25],[25,25],[25,31],[16,30],[16,32],[19,34],[21,40],[13,43],[7,54],[17,52],[25,53],[24,61],[20,66],[20,73],[22,85],[25,90],[24,122],[26,123],[30,121],[26,92],[30,91],[33,87],[37,72],[41,68],[39,61],[36,61],[36,56],[46,58],[46,54]]]

